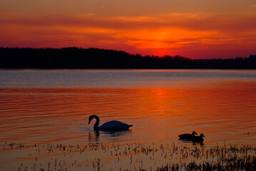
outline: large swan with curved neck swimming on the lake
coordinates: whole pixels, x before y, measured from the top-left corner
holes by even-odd
[[[129,128],[133,125],[128,125],[126,123],[122,123],[118,120],[112,120],[106,123],[103,123],[103,125],[98,126],[100,123],[100,118],[98,118],[97,115],[90,115],[89,116],[89,123],[91,123],[91,120],[93,118],[96,118],[96,123],[93,126],[93,130],[111,130],[111,131],[118,131],[118,130],[129,130]]]

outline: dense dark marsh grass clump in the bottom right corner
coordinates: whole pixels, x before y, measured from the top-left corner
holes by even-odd
[[[203,152],[195,150],[197,153],[193,157],[203,156]],[[242,146],[222,148],[213,147],[210,150],[205,150],[205,154],[210,154],[212,162],[209,160],[202,160],[200,162],[189,162],[186,164],[175,163],[172,165],[165,165],[164,167],[158,167],[158,171],[168,170],[256,170],[256,149],[255,147]],[[214,161],[214,157],[217,160]]]

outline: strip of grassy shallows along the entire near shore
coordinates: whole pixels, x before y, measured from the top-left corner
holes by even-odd
[[[3,170],[256,170],[251,145],[0,145]]]

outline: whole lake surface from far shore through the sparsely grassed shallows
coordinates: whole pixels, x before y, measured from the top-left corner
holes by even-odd
[[[181,133],[203,133],[205,148],[255,145],[255,102],[256,71],[2,70],[0,170],[155,170],[188,163],[195,158],[181,159],[168,148],[198,145],[178,140]],[[133,127],[96,133],[89,115],[98,115],[100,125],[121,120]],[[158,151],[134,153],[141,145]]]

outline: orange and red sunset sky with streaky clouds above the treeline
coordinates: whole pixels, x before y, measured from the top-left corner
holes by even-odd
[[[71,46],[143,56],[245,58],[256,54],[256,1],[0,1],[0,47]]]

